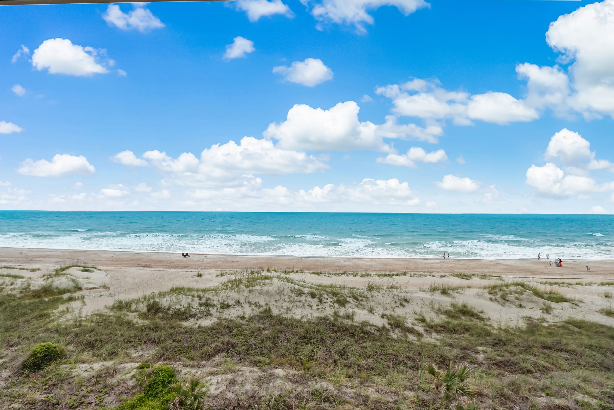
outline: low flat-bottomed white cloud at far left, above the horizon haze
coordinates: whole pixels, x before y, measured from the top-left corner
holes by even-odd
[[[20,163],[16,171],[29,176],[63,176],[93,174],[95,168],[82,155],[77,157],[69,154],[55,154],[51,162],[46,159],[33,161],[28,158]]]

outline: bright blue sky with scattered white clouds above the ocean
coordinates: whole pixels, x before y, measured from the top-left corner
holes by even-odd
[[[614,213],[614,0],[0,22],[0,209]]]

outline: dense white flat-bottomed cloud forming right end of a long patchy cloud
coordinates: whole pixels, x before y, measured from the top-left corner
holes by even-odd
[[[509,124],[510,122],[526,122],[539,116],[534,108],[524,101],[516,100],[507,93],[488,92],[472,95],[467,104],[467,116],[470,119]]]

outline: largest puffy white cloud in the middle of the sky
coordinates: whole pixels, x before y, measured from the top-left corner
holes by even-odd
[[[277,146],[283,149],[392,152],[376,133],[377,125],[358,120],[359,111],[354,101],[330,109],[295,104],[285,121],[272,122],[263,134],[278,140]]]

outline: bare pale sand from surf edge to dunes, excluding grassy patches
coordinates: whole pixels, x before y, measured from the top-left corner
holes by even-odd
[[[429,310],[429,306],[433,304],[466,302],[499,322],[543,315],[540,311],[545,302],[543,299],[532,298],[524,304],[516,302],[516,305],[520,306],[518,307],[505,301],[494,301],[491,295],[484,292],[484,288],[492,283],[521,280],[542,290],[554,288],[557,293],[582,301],[580,304],[554,304],[557,309],[556,314],[550,315],[553,320],[573,316],[614,325],[614,318],[599,313],[600,309],[612,305],[611,296],[608,298],[612,287],[600,285],[602,282],[614,280],[612,261],[564,261],[562,267],[555,267],[554,264],[550,266],[544,259],[361,259],[220,254],[192,254],[190,258],[182,258],[180,253],[0,248],[0,266],[40,269],[36,272],[2,269],[0,274],[18,274],[34,282],[39,281],[37,283],[42,283],[44,275],[52,273],[53,269],[74,264],[96,267],[91,274],[84,274],[77,267],[66,272],[81,280],[82,286],[110,287],[104,290],[80,291],[84,296],[80,309],[85,314],[104,310],[120,299],[134,299],[179,286],[218,286],[230,278],[245,277],[246,270],[262,269],[267,275],[283,274],[284,277],[309,284],[308,286],[334,285],[362,289],[375,284],[386,289],[392,285],[392,288],[400,292],[411,293],[414,301],[414,307],[411,309],[420,306],[422,310]],[[586,270],[586,265],[591,267],[590,272]],[[292,273],[287,273],[289,271]],[[400,272],[407,273],[398,276],[386,275]],[[463,277],[458,274],[472,276]],[[271,281],[273,282],[276,281]],[[555,285],[557,282],[559,285]],[[588,286],[561,285],[560,282],[586,283]],[[276,298],[276,292],[287,292],[287,289],[280,290],[279,286],[290,286],[287,283],[271,286],[271,283],[260,287],[255,302],[266,304],[271,298]],[[432,291],[433,286],[459,289],[451,294],[442,294]],[[252,298],[252,293],[235,292],[232,295],[226,294],[225,297]],[[378,298],[382,310],[387,309],[387,303],[392,303],[386,292],[379,294]],[[288,310],[287,306],[292,304],[291,298],[286,302],[282,300],[285,299],[280,297],[277,309],[279,312]],[[173,303],[181,304],[181,301],[174,299]],[[311,317],[315,312],[305,310],[301,306],[293,306],[292,309],[300,317]],[[315,313],[323,312],[318,310]],[[230,315],[230,311],[224,314]],[[367,313],[365,318],[373,321]]]

